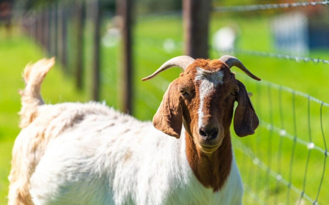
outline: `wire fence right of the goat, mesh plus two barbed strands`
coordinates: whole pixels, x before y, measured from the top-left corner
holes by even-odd
[[[260,11],[260,10],[275,10],[275,9],[283,9],[283,8],[297,8],[297,7],[309,7],[309,6],[328,6],[329,2],[326,1],[313,1],[313,2],[295,2],[295,3],[281,3],[281,4],[265,4],[265,5],[246,5],[246,6],[228,6],[228,7],[216,7],[213,9],[215,12],[242,12],[242,11]],[[237,53],[242,55],[249,56],[259,56],[259,57],[270,57],[275,59],[285,59],[292,60],[296,63],[300,62],[313,62],[315,64],[319,64],[324,66],[324,64],[329,64],[329,60],[321,59],[321,58],[312,58],[312,57],[304,57],[297,56],[291,54],[282,54],[282,53],[271,53],[271,52],[263,52],[263,51],[254,51],[254,50],[246,50],[234,48],[230,50],[218,50],[214,47],[211,49],[217,51],[218,53]],[[256,145],[252,145],[252,143],[242,143],[240,139],[234,139],[234,148],[240,151],[242,154],[242,162],[240,162],[240,168],[242,167],[244,171],[248,172],[248,174],[242,174],[245,193],[249,195],[251,201],[250,204],[326,204],[328,202],[328,198],[326,196],[327,188],[328,188],[328,180],[325,180],[327,183],[324,184],[325,192],[321,193],[321,188],[323,187],[323,182],[325,178],[326,171],[326,160],[328,155],[328,150],[326,146],[325,132],[324,128],[326,128],[323,119],[323,109],[328,108],[329,104],[323,102],[315,97],[310,96],[307,93],[295,91],[291,88],[277,85],[265,80],[260,82],[250,81],[249,78],[244,79],[249,81],[250,84],[253,84],[257,87],[255,89],[255,94],[257,97],[257,106],[256,113],[258,113],[260,117],[260,131],[257,131],[256,136]],[[262,89],[263,88],[263,89]],[[277,118],[276,123],[274,123],[273,115],[275,113],[273,109],[273,104],[275,101],[273,100],[273,90],[276,91],[277,96],[274,98],[277,99]],[[263,91],[263,92],[261,92]],[[264,91],[267,92],[267,95],[264,95]],[[285,97],[285,101],[283,101],[283,92],[288,93],[290,96],[290,100],[287,100],[287,96]],[[298,118],[296,117],[296,111],[299,111],[301,108],[300,105],[296,106],[296,96],[299,96],[301,99],[299,101],[307,102],[307,110],[302,113]],[[264,99],[265,98],[265,99]],[[266,99],[267,98],[267,99]],[[285,115],[287,114],[287,103],[291,103],[290,112],[292,114],[292,125],[287,126],[288,121],[285,119]],[[265,103],[267,102],[267,103]],[[314,112],[314,109],[311,111],[311,102],[315,102],[317,105],[317,109],[319,111],[319,124],[321,132],[318,130],[315,131],[314,127],[316,122],[314,119],[311,120],[311,112]],[[300,102],[298,102],[300,104]],[[262,112],[261,107],[266,106],[266,117],[268,117],[268,122],[264,119],[264,112]],[[296,108],[297,107],[297,108]],[[285,110],[285,111],[284,111]],[[262,115],[263,114],[263,115]],[[302,128],[297,127],[297,121],[304,121],[304,123],[300,123],[303,125]],[[326,119],[327,120],[327,119]],[[305,126],[305,122],[307,122],[307,126]],[[327,122],[327,121],[326,121]],[[277,124],[277,125],[276,125]],[[288,130],[291,131],[288,131]],[[298,130],[302,129],[302,135]],[[274,134],[274,135],[273,135]],[[273,138],[273,136],[275,136]],[[265,140],[261,139],[264,138]],[[319,140],[319,138],[322,138]],[[289,140],[287,142],[285,140]],[[315,143],[314,140],[317,142]],[[260,148],[262,141],[266,141],[267,143],[267,153],[262,151],[263,148]],[[272,143],[275,142],[275,145]],[[283,160],[284,155],[289,154],[289,150],[287,150],[287,146],[284,144],[290,144],[290,159],[289,164],[283,164],[285,160]],[[264,146],[264,145],[263,145]],[[303,147],[304,149],[297,148]],[[253,148],[253,149],[252,149]],[[314,151],[312,151],[314,150]],[[306,153],[303,159],[305,160],[304,167],[300,163],[300,152]],[[317,152],[317,158],[314,160],[318,163],[323,158],[322,167],[317,164],[317,175],[313,172],[315,163],[311,163],[311,154],[315,154]],[[264,157],[266,155],[266,157]],[[275,162],[276,155],[276,162]],[[249,166],[246,165],[244,157],[249,158]],[[266,160],[265,160],[266,158]],[[314,157],[313,157],[314,158]],[[296,161],[298,161],[296,163]],[[273,163],[275,162],[275,164]],[[288,165],[288,167],[287,167]],[[249,167],[249,169],[246,169]],[[302,173],[302,180],[295,180],[294,177],[297,175],[295,173],[295,169],[298,169],[299,173]],[[310,169],[312,172],[310,173]],[[287,173],[288,171],[288,173]],[[253,177],[254,176],[254,177]],[[316,177],[314,177],[316,176]],[[255,182],[252,182],[252,178],[254,178]],[[297,178],[297,177],[296,177]],[[316,178],[317,185],[312,183],[312,188],[307,189],[308,184],[310,184],[309,178]],[[263,183],[262,183],[263,181]],[[260,185],[261,184],[261,185]],[[282,186],[285,187],[285,193],[282,191]],[[281,191],[280,191],[281,190]],[[319,203],[319,197],[322,196],[322,203]]]

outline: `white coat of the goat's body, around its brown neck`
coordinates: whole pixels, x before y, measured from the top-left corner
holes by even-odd
[[[241,204],[234,158],[224,186],[205,188],[188,163],[184,129],[176,139],[93,102],[42,105],[38,113],[16,139],[29,143],[42,124],[51,133],[30,179],[36,205]]]

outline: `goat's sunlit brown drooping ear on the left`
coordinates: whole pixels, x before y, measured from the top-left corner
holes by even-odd
[[[179,138],[182,131],[182,109],[180,106],[181,95],[177,90],[178,79],[170,83],[160,104],[160,107],[153,117],[153,126],[176,138]]]

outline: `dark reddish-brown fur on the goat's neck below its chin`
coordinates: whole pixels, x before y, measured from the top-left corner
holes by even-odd
[[[219,148],[207,154],[200,151],[193,142],[192,136],[186,135],[186,155],[190,167],[200,183],[212,188],[214,192],[220,190],[231,171],[232,146],[230,132],[224,137]]]

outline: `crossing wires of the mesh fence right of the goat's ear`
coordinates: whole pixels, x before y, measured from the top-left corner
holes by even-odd
[[[251,81],[250,79],[246,78],[247,81],[250,81],[252,83],[255,83],[257,85],[257,92],[260,92],[260,86],[264,86],[268,88],[268,101],[269,101],[269,109],[270,109],[270,113],[269,113],[269,120],[270,123],[266,122],[265,120],[263,120],[261,118],[261,113],[259,112],[259,119],[260,119],[260,126],[264,127],[268,130],[268,149],[267,149],[267,165],[262,161],[262,157],[261,157],[261,153],[258,153],[258,157],[251,151],[251,148],[249,145],[243,145],[242,143],[239,142],[239,140],[235,140],[234,142],[234,147],[237,148],[238,150],[240,150],[244,155],[247,155],[251,161],[259,168],[261,168],[262,170],[264,170],[266,172],[266,178],[265,178],[265,197],[264,199],[264,203],[261,203],[259,200],[257,195],[255,198],[255,195],[251,195],[252,198],[255,199],[255,202],[260,203],[260,204],[268,204],[268,198],[267,197],[269,195],[268,192],[268,188],[269,188],[269,176],[272,176],[273,178],[276,179],[276,190],[279,189],[279,184],[283,184],[287,187],[287,195],[286,195],[286,204],[290,204],[290,198],[291,198],[291,194],[290,191],[292,190],[294,193],[298,194],[298,200],[296,201],[297,204],[301,204],[302,203],[302,199],[305,198],[306,200],[308,200],[309,202],[311,202],[312,204],[318,204],[317,200],[318,200],[318,196],[320,193],[320,189],[322,186],[322,182],[323,182],[323,178],[324,178],[324,173],[325,173],[325,168],[326,168],[326,159],[327,159],[327,155],[328,155],[328,151],[327,151],[327,147],[326,147],[326,141],[325,141],[325,136],[324,136],[324,131],[323,131],[323,121],[322,121],[322,108],[323,106],[325,107],[329,107],[328,103],[325,103],[315,97],[312,97],[306,93],[303,92],[299,92],[299,91],[294,91],[291,88],[288,87],[284,87],[284,86],[280,86],[268,81]],[[278,100],[279,100],[279,108],[280,108],[280,128],[276,127],[273,125],[273,121],[272,121],[272,95],[270,92],[270,89],[277,89],[278,92]],[[292,95],[292,116],[293,116],[293,133],[294,134],[290,134],[285,130],[284,127],[284,122],[283,122],[283,113],[282,113],[282,98],[281,98],[281,94],[282,91],[291,93]],[[302,96],[303,98],[307,99],[307,123],[308,123],[308,138],[309,138],[309,142],[300,139],[297,137],[297,127],[296,127],[296,113],[295,113],[295,96],[299,95]],[[313,142],[312,142],[312,135],[311,135],[311,120],[310,120],[310,102],[314,101],[318,104],[320,104],[320,126],[321,126],[321,133],[322,133],[322,138],[323,138],[323,144],[324,144],[324,149],[316,146]],[[258,104],[260,103],[260,101],[258,100]],[[271,135],[272,132],[276,132],[279,134],[280,138],[279,138],[279,146],[278,146],[278,164],[277,164],[277,172],[275,172],[272,168],[271,168],[271,160],[269,160],[268,158],[271,158],[271,149],[269,149],[271,147]],[[261,131],[259,131],[260,133]],[[258,133],[258,134],[259,134]],[[282,154],[282,139],[283,137],[288,138],[292,141],[292,148],[291,148],[291,156],[290,156],[290,166],[289,166],[289,174],[288,174],[288,180],[282,178],[281,175],[281,154]],[[237,142],[236,142],[237,141]],[[295,155],[295,148],[296,148],[296,144],[301,144],[303,146],[305,146],[308,149],[308,153],[307,153],[307,158],[306,158],[306,163],[305,163],[305,169],[304,169],[304,175],[303,175],[303,181],[302,181],[302,188],[301,190],[299,190],[298,188],[296,188],[294,185],[292,185],[292,168],[294,165],[294,155]],[[258,149],[258,148],[256,148]],[[315,199],[312,199],[309,195],[307,195],[305,193],[305,188],[306,188],[306,179],[307,179],[307,171],[308,171],[308,167],[309,167],[309,161],[310,161],[310,153],[311,150],[317,150],[320,153],[324,154],[324,161],[323,161],[323,169],[322,169],[322,174],[321,174],[321,178],[320,178],[320,182],[318,185],[318,189],[316,192],[316,197]],[[243,160],[244,161],[244,160]],[[250,168],[251,169],[251,168]],[[249,171],[250,172],[250,171]],[[256,189],[256,193],[259,193],[259,190]],[[275,195],[274,197],[274,204],[277,204],[278,202],[278,194]]]

